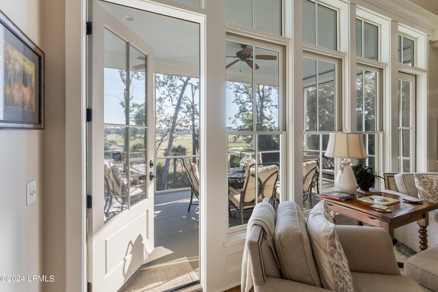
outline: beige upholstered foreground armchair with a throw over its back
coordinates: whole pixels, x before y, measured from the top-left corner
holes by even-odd
[[[244,291],[250,288],[248,278],[252,278],[256,292],[328,291],[322,284],[324,275],[314,257],[301,209],[294,202],[281,202],[275,215],[274,211],[266,211],[269,207],[270,204],[257,204],[248,222],[242,265]],[[267,217],[272,213],[273,217]],[[259,222],[272,222],[274,228]],[[342,291],[424,291],[415,280],[400,274],[391,237],[382,228],[335,226],[335,233],[352,277],[353,287]]]

